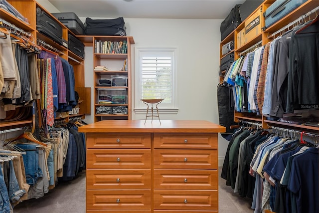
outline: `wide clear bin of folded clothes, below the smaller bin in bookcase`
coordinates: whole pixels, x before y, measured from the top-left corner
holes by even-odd
[[[126,104],[126,89],[98,88],[98,104]]]

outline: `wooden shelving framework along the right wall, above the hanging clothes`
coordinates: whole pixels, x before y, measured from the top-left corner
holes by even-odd
[[[252,14],[254,14],[260,7],[262,8],[262,12],[265,12],[266,9],[273,3],[275,0],[264,0],[261,5],[256,8]],[[240,57],[240,53],[249,47],[253,46],[254,44],[258,43],[261,41],[262,45],[267,44],[269,41],[271,41],[273,38],[271,35],[276,32],[277,30],[280,30],[282,27],[286,26],[290,22],[298,19],[300,16],[306,14],[307,12],[311,11],[312,9],[316,8],[319,6],[319,1],[318,0],[308,0],[301,6],[297,7],[295,10],[293,10],[291,13],[287,14],[285,17],[283,17],[281,20],[276,22],[275,24],[271,25],[265,31],[262,31],[260,34],[256,35],[253,37],[251,40],[247,41],[245,44],[241,45],[240,47],[237,47],[237,34],[240,32],[245,27],[245,20],[242,20],[242,23],[238,25],[238,27],[230,33],[224,40],[221,41],[220,43],[220,59],[222,59],[225,56],[222,56],[221,54],[221,49],[222,46],[226,43],[228,43],[231,40],[234,40],[235,43],[235,49],[231,52],[234,52],[234,60],[237,60]],[[250,16],[247,17],[247,19]],[[246,20],[247,20],[246,19]],[[262,26],[265,23],[264,17],[261,17],[261,23]],[[228,53],[229,54],[229,53]],[[222,74],[224,75],[226,71],[222,70]],[[223,80],[223,76],[220,76],[220,81]],[[278,121],[271,121],[267,120],[266,116],[263,115],[256,115],[256,113],[243,113],[243,112],[236,112],[234,113],[234,120],[236,122],[239,121],[252,121],[252,122],[257,122],[261,123],[262,127],[265,129],[268,129],[270,126],[275,126],[275,127],[284,127],[288,129],[296,129],[300,131],[308,131],[308,132],[315,132],[319,133],[319,127],[313,127],[313,126],[306,126],[306,125],[297,125],[297,124],[290,124],[290,123],[283,123],[283,122],[278,122]]]

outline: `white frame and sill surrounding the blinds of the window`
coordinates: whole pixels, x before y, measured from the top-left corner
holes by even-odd
[[[172,57],[171,60],[171,78],[172,88],[171,95],[172,100],[170,104],[160,103],[159,113],[160,114],[177,114],[177,48],[175,47],[135,47],[135,113],[146,114],[147,106],[140,99],[141,97],[141,72],[142,72],[142,58],[149,53],[162,53],[167,52]]]

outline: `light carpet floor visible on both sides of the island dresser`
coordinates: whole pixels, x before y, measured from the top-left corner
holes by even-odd
[[[221,172],[219,168],[219,177]],[[253,213],[251,199],[241,198],[219,178],[219,213]],[[59,182],[44,197],[23,201],[14,213],[85,213],[85,171],[72,181]]]

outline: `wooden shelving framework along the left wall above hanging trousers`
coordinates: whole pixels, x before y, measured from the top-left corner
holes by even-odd
[[[24,30],[25,32],[31,33],[33,37],[32,42],[34,42],[35,44],[37,39],[40,39],[44,41],[46,44],[56,48],[60,52],[59,56],[65,60],[68,60],[68,62],[73,66],[74,69],[75,90],[79,93],[80,100],[82,100],[82,102],[79,104],[80,112],[78,116],[84,118],[85,114],[90,114],[91,88],[85,88],[84,84],[84,59],[69,51],[65,46],[57,44],[52,39],[39,33],[36,30],[36,7],[40,7],[43,11],[47,12],[48,14],[50,14],[50,12],[48,12],[35,0],[7,0],[7,2],[10,3],[15,9],[17,9],[24,17],[26,17],[29,21],[29,24],[25,23],[19,18],[16,18],[14,15],[10,14],[2,8],[0,8],[0,18],[2,18],[5,21],[8,21],[9,23]],[[73,32],[71,32],[53,15],[51,15],[51,17],[60,23],[62,27],[62,37],[67,41],[68,33],[73,34]],[[7,113],[14,113],[14,110],[9,111]],[[0,122],[0,130],[12,129],[16,127],[29,125],[32,125],[32,117],[23,121]]]

